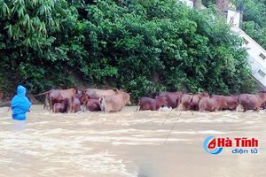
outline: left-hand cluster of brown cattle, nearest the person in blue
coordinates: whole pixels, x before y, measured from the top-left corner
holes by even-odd
[[[43,109],[52,112],[119,112],[130,103],[128,93],[118,89],[51,89],[45,95]]]

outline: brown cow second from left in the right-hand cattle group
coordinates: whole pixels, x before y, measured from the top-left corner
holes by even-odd
[[[182,96],[182,92],[160,92],[158,96],[166,97],[168,102],[167,106],[171,108],[176,108]]]

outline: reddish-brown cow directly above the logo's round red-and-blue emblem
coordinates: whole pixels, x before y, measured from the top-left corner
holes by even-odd
[[[226,107],[226,101],[222,97],[202,97],[200,99],[199,108],[200,112],[216,112],[221,111]]]

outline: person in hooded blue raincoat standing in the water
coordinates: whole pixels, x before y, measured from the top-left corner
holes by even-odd
[[[29,112],[31,106],[26,96],[26,88],[18,86],[17,95],[12,98],[12,118],[18,120],[26,119],[26,112]]]

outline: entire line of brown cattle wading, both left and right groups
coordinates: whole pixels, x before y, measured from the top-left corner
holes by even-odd
[[[129,93],[119,89],[51,89],[35,96],[45,96],[43,109],[52,112],[119,112],[130,104]],[[238,96],[209,96],[207,92],[187,94],[183,92],[160,92],[155,98],[141,97],[139,110],[157,111],[160,108],[176,108],[180,111],[216,112],[237,111],[239,107],[259,111],[266,109],[266,92],[240,94]]]

